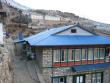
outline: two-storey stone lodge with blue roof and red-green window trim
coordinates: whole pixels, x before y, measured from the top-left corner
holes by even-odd
[[[27,42],[36,54],[45,83],[110,83],[107,36],[68,25],[17,42]]]

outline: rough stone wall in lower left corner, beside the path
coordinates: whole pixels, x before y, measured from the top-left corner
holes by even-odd
[[[13,83],[13,71],[9,52],[0,47],[0,83]]]

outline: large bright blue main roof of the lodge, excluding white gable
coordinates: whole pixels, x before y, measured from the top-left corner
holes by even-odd
[[[110,44],[110,38],[106,36],[81,36],[81,35],[55,35],[58,32],[69,29],[74,25],[53,28],[43,31],[39,34],[25,38],[33,46],[64,46],[64,45],[107,45]],[[17,41],[16,41],[17,42]],[[20,41],[18,41],[20,42]]]

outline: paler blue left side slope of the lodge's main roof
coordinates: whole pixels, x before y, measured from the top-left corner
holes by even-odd
[[[29,43],[40,41],[42,39],[47,38],[50,35],[53,35],[55,33],[58,33],[60,31],[65,30],[65,29],[71,28],[72,26],[74,26],[74,25],[63,26],[63,27],[59,27],[59,28],[52,28],[52,29],[49,29],[49,30],[45,30],[45,31],[40,32],[40,33],[38,33],[36,35],[30,36],[28,38],[24,38],[22,41],[28,41]],[[15,40],[15,42],[21,42],[21,40],[20,41],[19,40]]]

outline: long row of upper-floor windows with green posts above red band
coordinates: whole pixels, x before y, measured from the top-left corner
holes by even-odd
[[[55,49],[53,51],[54,62],[65,61],[82,61],[85,64],[86,60],[91,61],[104,59],[109,62],[109,55],[105,56],[105,48],[82,48],[82,49]],[[94,61],[95,62],[95,61]]]

